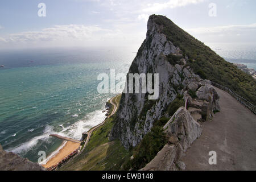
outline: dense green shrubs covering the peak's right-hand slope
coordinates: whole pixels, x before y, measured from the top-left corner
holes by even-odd
[[[151,15],[155,23],[162,26],[162,33],[174,46],[181,49],[183,56],[188,56],[188,65],[202,78],[217,82],[234,90],[237,94],[256,104],[256,80],[242,72],[232,63],[225,61],[204,43],[193,38],[176,26],[166,16]]]

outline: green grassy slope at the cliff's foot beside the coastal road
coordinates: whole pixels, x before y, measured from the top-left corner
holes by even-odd
[[[113,99],[113,102],[119,105],[121,96],[115,98],[116,100]],[[120,140],[109,141],[109,133],[114,125],[114,117],[115,115],[106,119],[104,125],[94,130],[85,150],[59,170],[120,170],[122,164],[129,159],[130,152],[125,150]]]

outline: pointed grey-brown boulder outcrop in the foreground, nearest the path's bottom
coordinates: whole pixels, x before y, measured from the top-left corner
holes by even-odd
[[[202,129],[185,107],[180,107],[164,126],[169,138],[162,150],[142,171],[184,170],[185,164],[180,161],[187,148],[200,137]]]

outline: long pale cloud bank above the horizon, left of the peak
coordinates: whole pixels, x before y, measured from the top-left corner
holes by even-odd
[[[125,26],[126,25],[126,26]],[[40,31],[26,31],[0,37],[1,48],[20,47],[116,47],[140,45],[143,35],[130,31],[133,24],[110,29],[83,24],[56,25]],[[144,34],[144,32],[143,32]]]

